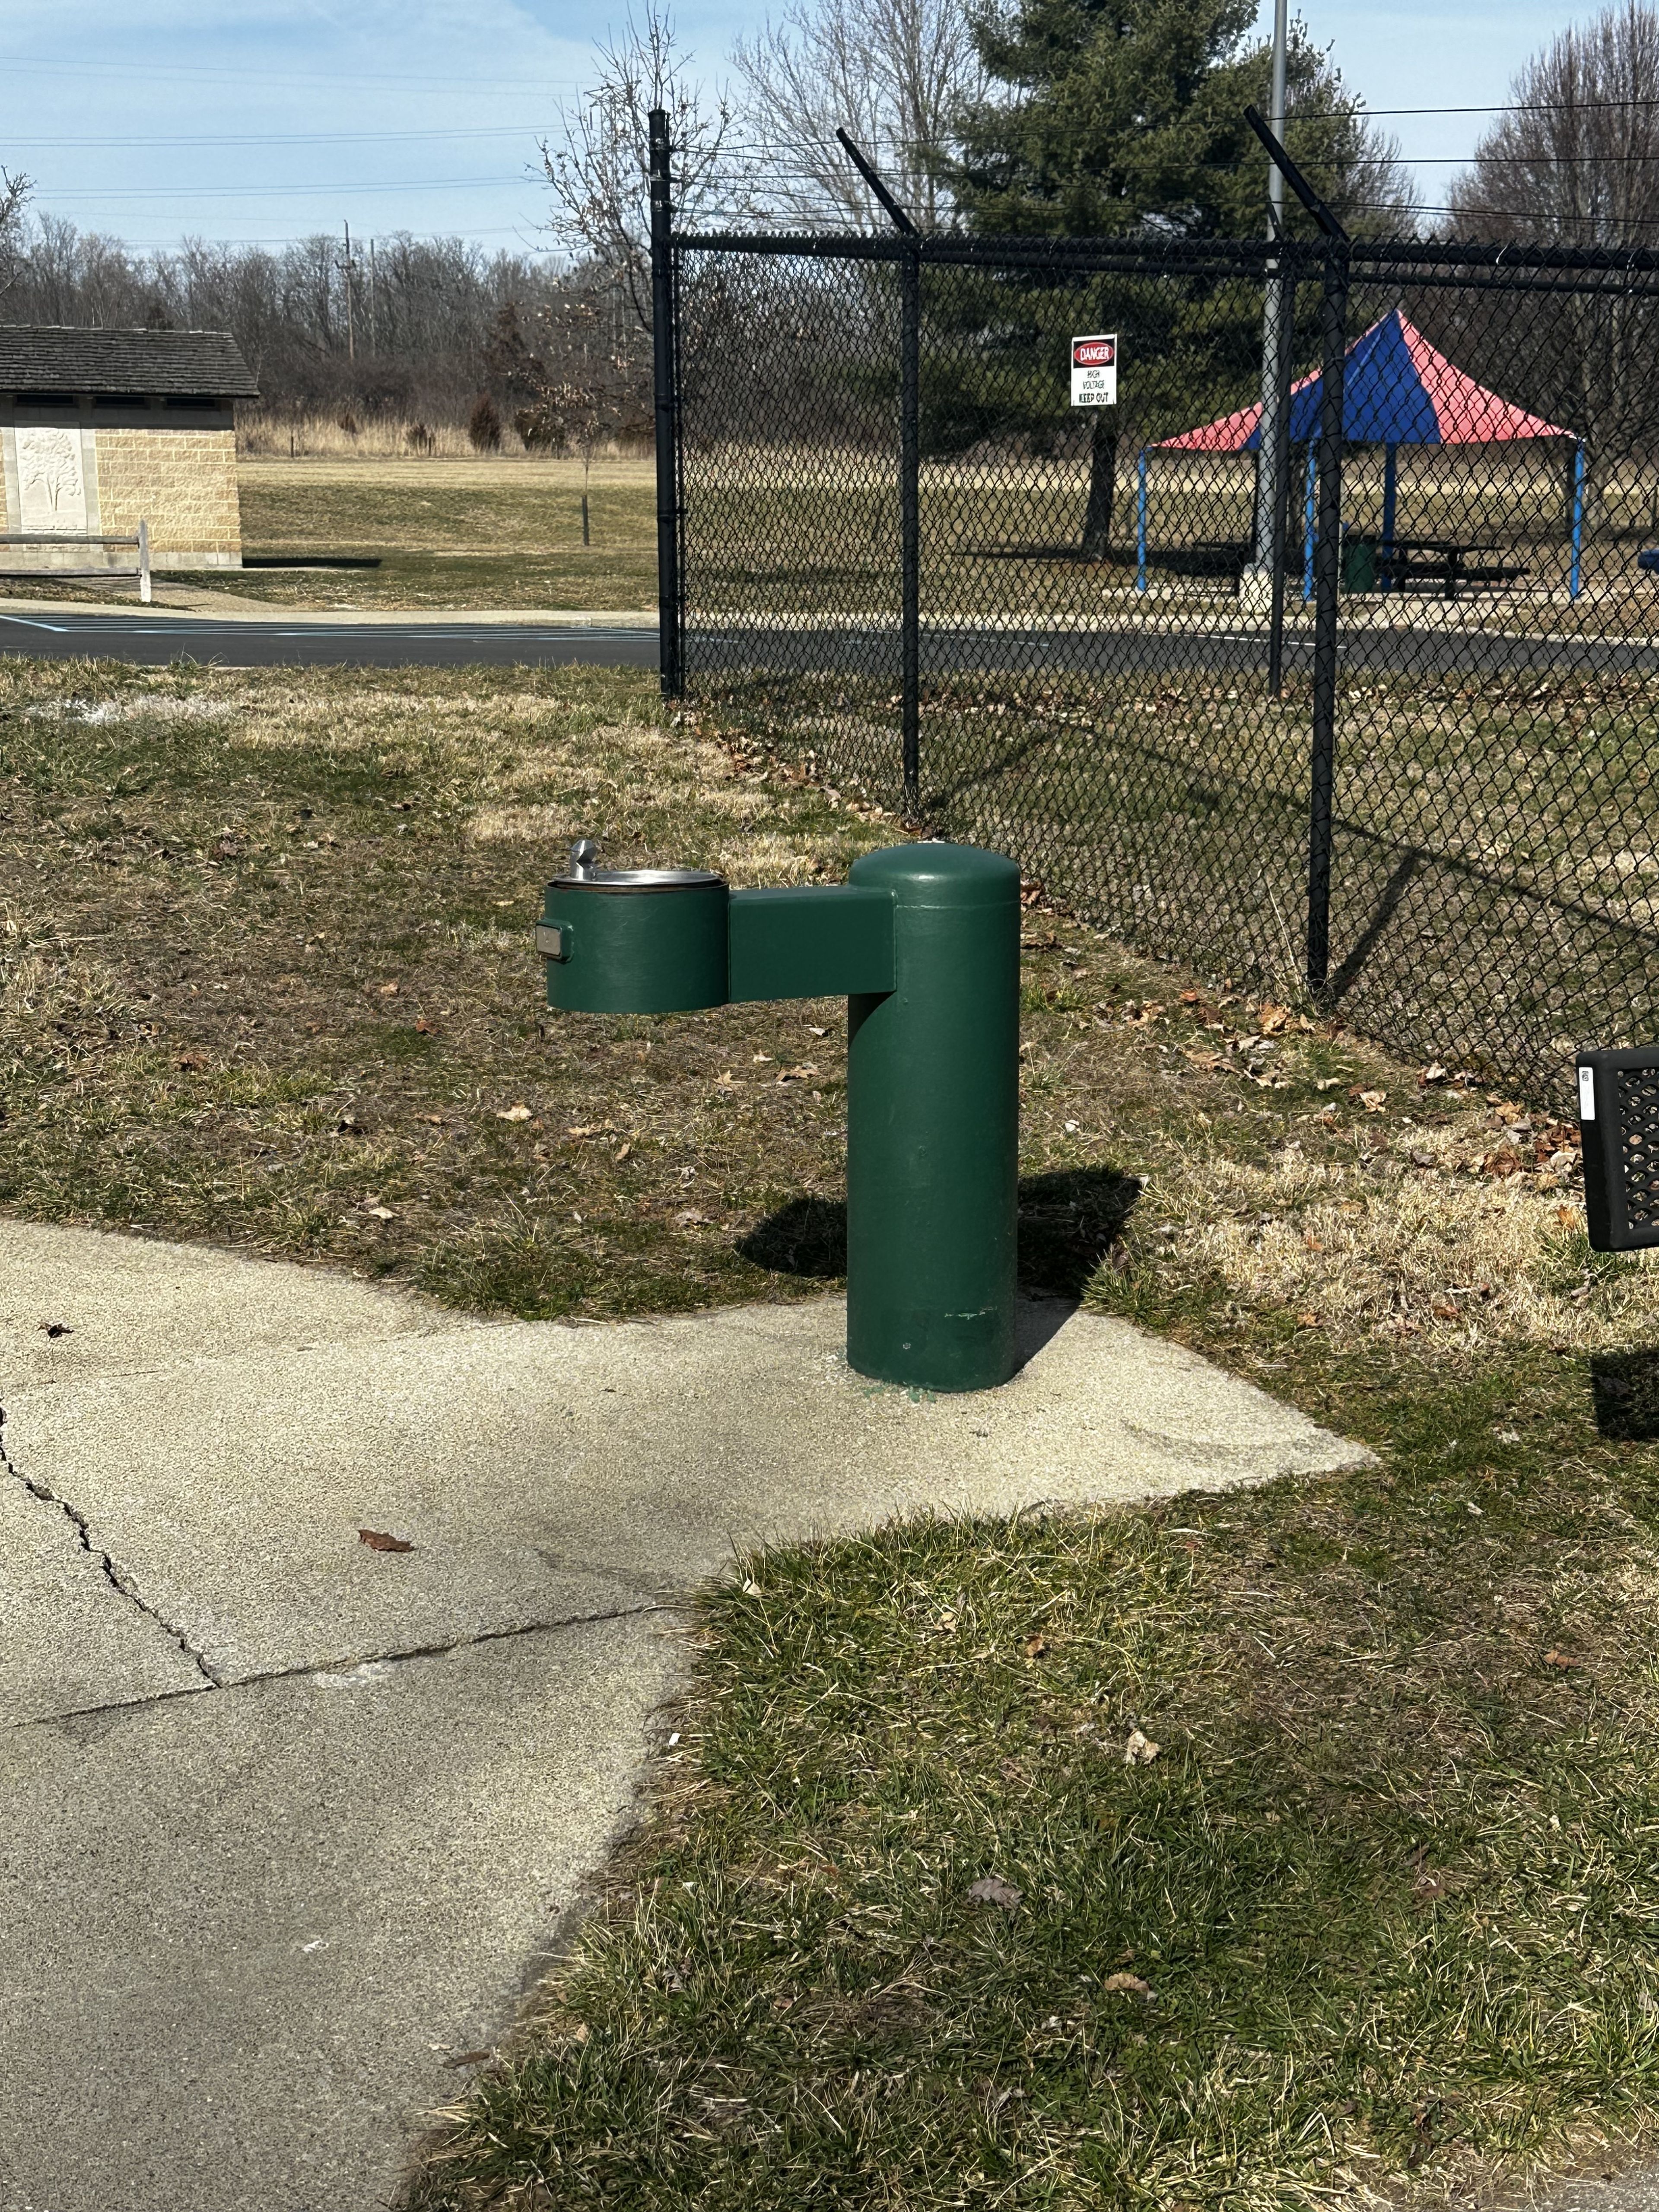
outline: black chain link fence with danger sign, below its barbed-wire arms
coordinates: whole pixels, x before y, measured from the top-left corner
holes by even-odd
[[[692,703],[1420,1062],[1566,1108],[1577,1046],[1655,1035],[1659,257],[730,234],[668,274]]]

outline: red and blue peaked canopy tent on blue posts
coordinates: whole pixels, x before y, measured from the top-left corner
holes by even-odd
[[[1318,414],[1323,405],[1323,372],[1314,369],[1290,387],[1290,445],[1307,447],[1303,595],[1312,593],[1314,573],[1314,471],[1318,453]],[[1584,442],[1559,422],[1513,407],[1506,398],[1478,385],[1440,347],[1429,345],[1400,307],[1360,332],[1343,363],[1343,442],[1383,447],[1383,544],[1396,533],[1398,453],[1402,445],[1509,445],[1522,438],[1573,440],[1573,573],[1571,591],[1579,593],[1579,551],[1584,529]],[[1157,453],[1259,453],[1261,400],[1179,438],[1161,438]],[[1137,575],[1135,588],[1146,591],[1146,458],[1139,453],[1137,489]]]

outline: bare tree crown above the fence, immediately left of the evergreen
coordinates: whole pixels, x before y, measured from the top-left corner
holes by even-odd
[[[845,128],[911,215],[938,226],[951,124],[984,93],[967,0],[785,0],[734,60],[779,215],[887,228],[836,142]]]

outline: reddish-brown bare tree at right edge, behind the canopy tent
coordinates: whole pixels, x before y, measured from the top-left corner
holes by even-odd
[[[1482,133],[1451,186],[1451,230],[1528,246],[1659,246],[1659,11],[1621,0],[1520,71],[1513,113]],[[1533,405],[1586,449],[1586,520],[1608,469],[1659,438],[1659,301],[1646,288],[1528,296],[1504,372],[1531,363]]]

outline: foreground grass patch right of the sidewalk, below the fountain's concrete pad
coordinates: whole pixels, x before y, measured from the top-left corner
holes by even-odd
[[[1267,2212],[1652,2126],[1655,1451],[1548,1349],[1099,1294],[1378,1467],[745,1562],[416,2203]]]

